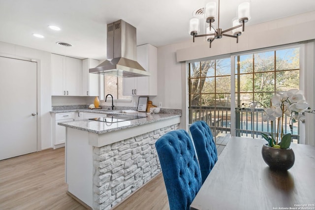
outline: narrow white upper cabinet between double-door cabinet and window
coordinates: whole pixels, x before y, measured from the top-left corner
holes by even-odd
[[[89,69],[98,64],[99,61],[95,59],[82,61],[82,96],[99,96],[99,74],[89,73]]]

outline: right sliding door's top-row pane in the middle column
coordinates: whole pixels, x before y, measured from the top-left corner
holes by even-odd
[[[254,54],[254,71],[273,71],[275,69],[275,53],[265,52]]]

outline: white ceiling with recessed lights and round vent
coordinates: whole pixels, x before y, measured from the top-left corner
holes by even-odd
[[[137,29],[137,45],[163,46],[192,37],[193,10],[209,0],[0,0],[0,41],[57,54],[106,59],[106,25],[123,19]],[[220,28],[231,27],[241,0],[221,0]],[[315,0],[252,0],[248,25],[315,11]],[[62,30],[50,30],[48,25]],[[245,27],[246,30],[246,27]],[[39,33],[44,39],[32,36]],[[70,43],[65,48],[56,42]]]

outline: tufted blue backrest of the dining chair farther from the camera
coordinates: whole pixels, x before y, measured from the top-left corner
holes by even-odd
[[[218,160],[218,151],[209,125],[205,121],[193,122],[189,130],[198,155],[203,183]]]

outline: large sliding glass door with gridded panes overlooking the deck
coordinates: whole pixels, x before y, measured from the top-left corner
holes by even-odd
[[[271,125],[262,120],[263,108],[270,106],[275,93],[299,89],[299,75],[299,47],[190,62],[189,124],[206,121],[216,142],[218,137],[229,137],[231,127],[236,136],[261,138],[261,132],[271,132]],[[255,109],[253,102],[257,102]],[[301,122],[285,120],[293,127],[294,141],[299,142]],[[284,132],[291,132],[289,125]]]

